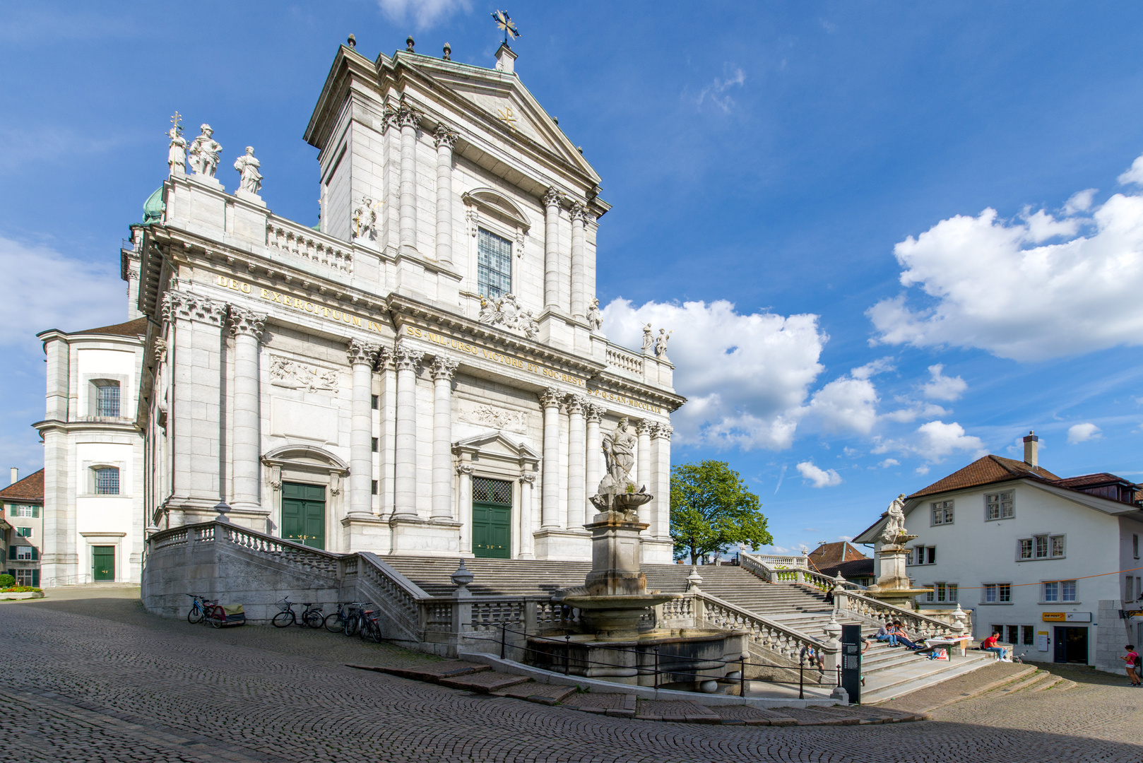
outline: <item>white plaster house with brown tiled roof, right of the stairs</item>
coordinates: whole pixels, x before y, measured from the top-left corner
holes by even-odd
[[[1124,645],[1143,643],[1141,618],[1125,617],[1143,609],[1143,492],[1110,474],[1057,477],[1037,442],[1024,438],[1024,461],[986,455],[908,498],[910,579],[933,588],[918,604],[973,610],[977,639],[998,629],[1024,659],[1119,671]],[[854,542],[879,550],[884,524]]]

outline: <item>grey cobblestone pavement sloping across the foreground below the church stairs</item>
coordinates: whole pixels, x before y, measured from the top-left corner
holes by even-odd
[[[214,630],[127,598],[0,604],[0,761],[1143,760],[1143,689],[983,696],[933,721],[717,726],[472,694],[343,662],[426,655],[302,628]]]

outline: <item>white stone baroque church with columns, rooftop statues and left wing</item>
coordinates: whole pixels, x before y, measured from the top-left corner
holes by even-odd
[[[685,400],[665,337],[604,334],[609,207],[515,57],[341,46],[313,228],[267,208],[253,149],[227,192],[210,127],[176,122],[121,252],[129,320],[40,334],[46,585],[137,581],[149,532],[219,511],[337,553],[589,561],[621,451],[654,495],[642,561],[671,562]]]

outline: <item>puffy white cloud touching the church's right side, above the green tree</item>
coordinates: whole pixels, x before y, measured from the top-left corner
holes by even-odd
[[[682,442],[780,450],[793,443],[809,386],[829,339],[817,316],[741,315],[734,304],[648,302],[622,297],[604,309],[608,337],[641,347],[642,327],[674,329],[668,356],[688,402],[671,423]]]

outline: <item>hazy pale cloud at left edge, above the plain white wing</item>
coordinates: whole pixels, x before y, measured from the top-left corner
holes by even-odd
[[[0,238],[0,347],[38,349],[35,334],[47,328],[80,331],[127,320],[127,285],[109,264]]]

